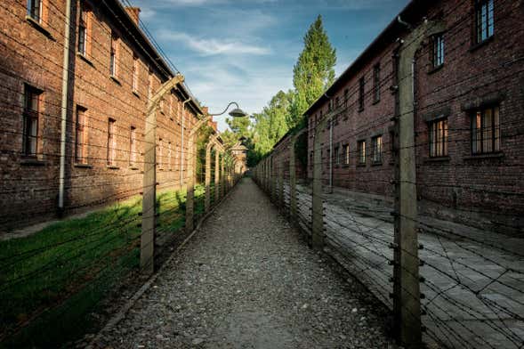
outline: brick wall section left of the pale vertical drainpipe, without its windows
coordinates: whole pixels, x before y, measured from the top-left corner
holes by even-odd
[[[64,1],[44,1],[40,25],[25,0],[0,4],[0,224],[53,215],[58,195]],[[24,84],[44,91],[37,161],[21,155]]]

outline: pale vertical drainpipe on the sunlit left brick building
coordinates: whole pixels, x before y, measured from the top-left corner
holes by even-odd
[[[64,33],[64,61],[62,67],[62,102],[61,102],[61,125],[60,125],[60,175],[58,191],[58,214],[64,212],[64,191],[66,174],[66,139],[69,105],[69,37],[71,34],[71,0],[66,1],[66,23]]]

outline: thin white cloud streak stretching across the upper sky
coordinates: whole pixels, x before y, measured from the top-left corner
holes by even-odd
[[[268,47],[246,44],[237,40],[205,39],[191,36],[187,33],[161,30],[158,37],[166,41],[176,41],[187,45],[193,51],[204,56],[215,54],[270,54]]]

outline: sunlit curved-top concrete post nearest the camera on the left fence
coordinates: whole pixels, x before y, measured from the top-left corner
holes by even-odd
[[[160,86],[149,100],[146,112],[144,175],[142,189],[141,272],[155,270],[155,235],[157,230],[157,108],[166,93],[170,93],[184,77],[177,74]]]

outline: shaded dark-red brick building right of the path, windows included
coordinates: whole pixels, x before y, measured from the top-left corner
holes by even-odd
[[[308,176],[318,129],[325,183],[391,198],[393,117],[403,40],[427,26],[413,60],[420,210],[522,233],[523,1],[414,0],[305,112]]]

